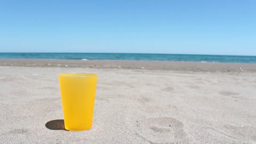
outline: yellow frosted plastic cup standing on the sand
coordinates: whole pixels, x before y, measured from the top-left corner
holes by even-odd
[[[60,74],[59,82],[65,129],[70,131],[91,129],[97,75]]]

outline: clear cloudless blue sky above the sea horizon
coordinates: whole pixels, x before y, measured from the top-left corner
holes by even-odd
[[[0,52],[256,55],[256,1],[0,0]]]

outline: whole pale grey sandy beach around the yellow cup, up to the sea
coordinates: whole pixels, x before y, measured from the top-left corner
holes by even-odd
[[[58,74],[98,75],[93,127],[63,130]],[[0,59],[0,143],[256,143],[256,64]]]

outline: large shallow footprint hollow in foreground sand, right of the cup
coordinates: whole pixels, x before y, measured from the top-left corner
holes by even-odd
[[[183,123],[172,117],[149,118],[138,122],[137,136],[149,143],[188,143]]]

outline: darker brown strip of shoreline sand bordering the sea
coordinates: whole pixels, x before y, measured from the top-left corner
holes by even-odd
[[[256,63],[221,63],[145,60],[57,60],[57,59],[0,59],[0,66],[19,67],[77,67],[116,68],[207,72],[256,72]]]

